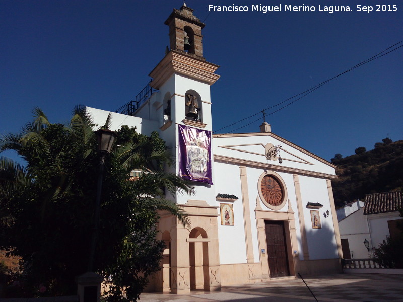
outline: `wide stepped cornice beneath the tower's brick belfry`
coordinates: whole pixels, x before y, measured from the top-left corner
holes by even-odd
[[[219,67],[219,65],[171,50],[150,72],[149,75],[153,78],[150,86],[159,89],[174,73],[213,85],[220,78],[220,75],[214,73]]]

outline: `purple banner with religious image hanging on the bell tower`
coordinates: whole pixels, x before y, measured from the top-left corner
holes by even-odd
[[[179,125],[179,170],[183,178],[213,184],[211,132]]]

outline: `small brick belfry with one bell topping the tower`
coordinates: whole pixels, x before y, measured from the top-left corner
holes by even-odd
[[[186,4],[180,10],[174,9],[165,21],[169,26],[169,40],[171,50],[185,53],[197,59],[206,60],[203,57],[203,44],[201,29],[205,24],[193,16],[193,10]]]

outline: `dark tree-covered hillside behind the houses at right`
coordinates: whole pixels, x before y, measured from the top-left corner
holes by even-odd
[[[403,190],[403,140],[385,138],[372,150],[358,147],[350,156],[335,154],[331,162],[339,176],[332,181],[336,206],[365,194]]]

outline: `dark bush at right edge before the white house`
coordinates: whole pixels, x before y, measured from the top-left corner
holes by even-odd
[[[399,209],[400,217],[403,217],[403,209]],[[399,221],[397,227],[400,229],[400,236],[395,238],[387,237],[378,248],[374,249],[374,258],[377,263],[388,268],[403,268],[403,223]]]

